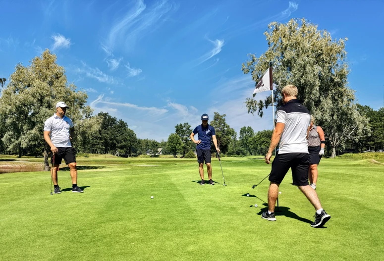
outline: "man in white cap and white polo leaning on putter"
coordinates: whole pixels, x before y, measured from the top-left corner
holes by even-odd
[[[69,107],[64,102],[58,102],[56,113],[44,123],[44,139],[52,151],[51,164],[54,164],[52,181],[55,185],[55,194],[61,193],[57,184],[57,169],[63,158],[70,169],[72,192],[84,192],[77,186],[76,157],[70,141],[75,134],[75,128],[72,120],[65,116],[67,108]]]

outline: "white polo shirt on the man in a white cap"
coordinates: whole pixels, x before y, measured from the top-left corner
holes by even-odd
[[[60,118],[54,114],[44,123],[44,130],[51,131],[51,141],[55,147],[59,148],[72,147],[69,140],[69,128],[72,127],[72,120],[65,115],[63,118]]]

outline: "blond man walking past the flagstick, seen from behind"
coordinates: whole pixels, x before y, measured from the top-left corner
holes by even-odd
[[[320,227],[329,220],[330,215],[322,208],[316,191],[308,183],[307,137],[310,130],[311,114],[297,100],[296,86],[285,86],[281,95],[284,105],[277,109],[277,123],[272,134],[269,151],[265,157],[266,163],[271,163],[272,152],[280,142],[279,151],[272,163],[269,178],[271,184],[268,190],[268,211],[264,212],[261,217],[270,221],[276,220],[274,206],[278,197],[278,186],[291,168],[293,185],[299,187],[316,209],[315,221],[311,223],[311,226]]]

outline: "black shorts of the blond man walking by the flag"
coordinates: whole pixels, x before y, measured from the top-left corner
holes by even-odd
[[[269,180],[280,184],[289,168],[292,171],[292,181],[295,186],[307,186],[309,155],[308,153],[278,154],[272,162]]]

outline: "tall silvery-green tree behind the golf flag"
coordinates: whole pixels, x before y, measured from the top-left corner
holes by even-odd
[[[354,92],[347,86],[347,38],[332,40],[329,32],[318,30],[317,25],[304,18],[291,19],[287,24],[272,22],[264,34],[268,41],[267,52],[260,57],[250,55],[242,70],[245,74],[251,73],[257,82],[270,62],[273,63],[277,106],[282,104],[281,89],[287,84],[295,85],[297,98],[323,127],[333,152],[346,140],[369,134],[367,122],[356,110]],[[247,99],[245,103],[249,113],[258,111],[258,115],[263,116],[263,107],[272,104],[272,97],[264,102]]]

